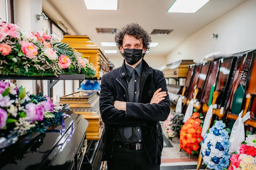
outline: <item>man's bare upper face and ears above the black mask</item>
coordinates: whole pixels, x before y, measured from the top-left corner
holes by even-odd
[[[142,39],[136,39],[132,35],[124,35],[123,39],[123,48],[135,48],[135,49],[143,49],[142,53],[145,53],[146,49],[143,48]],[[120,47],[120,51],[124,53],[124,49]]]

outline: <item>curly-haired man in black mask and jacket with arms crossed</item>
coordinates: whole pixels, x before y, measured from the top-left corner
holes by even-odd
[[[107,160],[108,170],[159,170],[159,121],[170,113],[166,80],[143,59],[151,38],[141,26],[125,26],[115,40],[124,63],[101,80],[100,113],[106,128],[102,160]]]

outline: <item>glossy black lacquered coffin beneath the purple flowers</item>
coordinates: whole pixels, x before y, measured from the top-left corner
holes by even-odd
[[[1,170],[78,170],[80,169],[86,150],[85,130],[89,122],[69,110],[65,105],[60,110],[65,117],[65,132],[36,133],[24,135],[11,146],[0,149]],[[62,125],[49,129],[62,130]],[[68,140],[68,138],[70,140]],[[84,151],[84,153],[82,153]]]

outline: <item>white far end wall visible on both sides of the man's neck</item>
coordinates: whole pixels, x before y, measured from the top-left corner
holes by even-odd
[[[108,56],[110,62],[112,62],[116,68],[121,67],[124,62],[124,57],[119,56]],[[145,55],[145,61],[148,65],[154,69],[157,69],[163,65],[166,65],[166,56],[165,55]]]

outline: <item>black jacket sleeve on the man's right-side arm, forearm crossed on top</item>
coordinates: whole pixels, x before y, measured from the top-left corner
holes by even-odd
[[[166,86],[166,80],[162,71],[158,74],[156,89],[162,88],[167,96],[159,104],[153,103],[126,103],[126,116],[130,118],[138,118],[149,121],[165,121],[170,114],[170,98]]]

